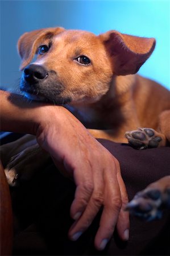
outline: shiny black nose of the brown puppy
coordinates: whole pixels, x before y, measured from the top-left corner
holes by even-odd
[[[48,72],[41,65],[30,64],[24,69],[24,79],[28,82],[38,82],[47,76]]]

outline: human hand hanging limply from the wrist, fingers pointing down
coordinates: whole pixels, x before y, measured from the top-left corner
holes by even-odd
[[[75,222],[69,238],[76,241],[103,206],[94,241],[96,248],[105,248],[116,225],[122,240],[128,240],[128,213],[123,210],[128,199],[118,160],[60,106],[43,108],[36,137],[61,172],[73,177],[77,186],[71,205]]]

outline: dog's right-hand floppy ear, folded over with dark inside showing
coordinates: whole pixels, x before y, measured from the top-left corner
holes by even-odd
[[[99,35],[111,58],[115,75],[138,72],[155,48],[154,38],[140,38],[111,30]]]

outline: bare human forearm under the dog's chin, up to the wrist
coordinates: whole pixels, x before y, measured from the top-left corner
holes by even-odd
[[[50,106],[34,101],[30,104],[23,96],[0,90],[1,131],[36,135],[47,108]]]

